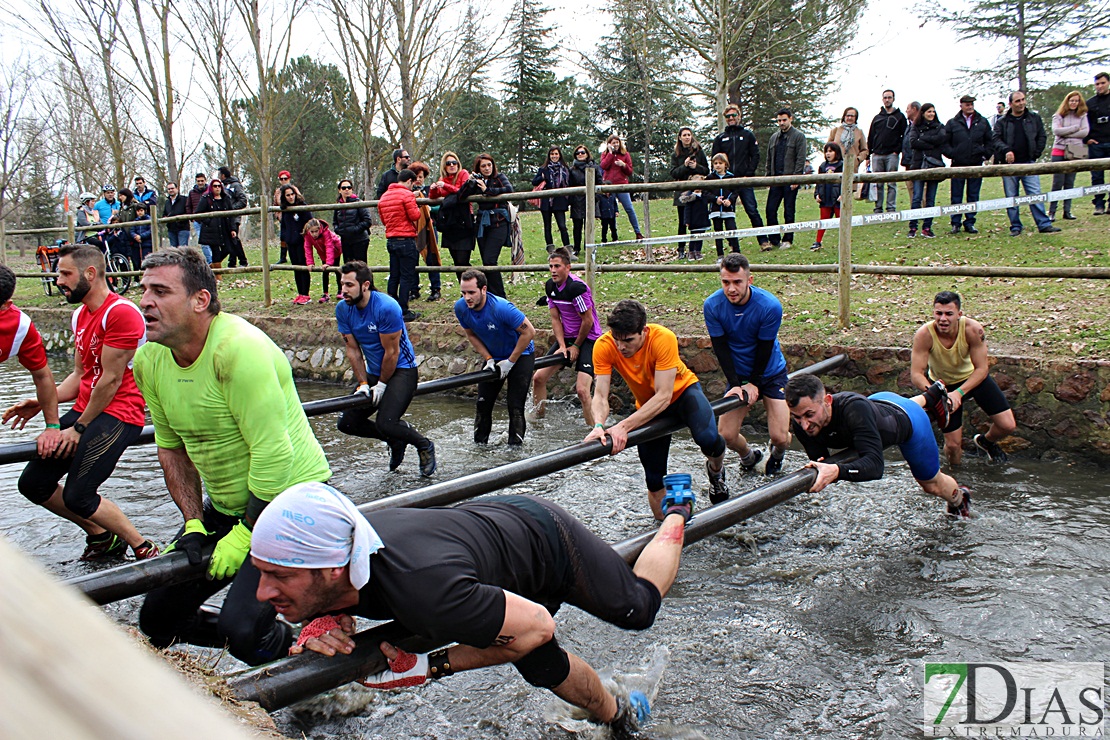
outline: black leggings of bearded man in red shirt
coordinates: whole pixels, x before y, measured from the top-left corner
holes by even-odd
[[[81,413],[70,409],[62,416],[61,427],[68,429],[79,418]],[[65,508],[88,519],[100,508],[97,489],[112,475],[120,455],[140,434],[142,426],[125,424],[101,412],[81,435],[72,457],[36,455],[19,476],[19,493],[41,506],[54,495],[58,481],[65,476],[65,487],[62,488]]]

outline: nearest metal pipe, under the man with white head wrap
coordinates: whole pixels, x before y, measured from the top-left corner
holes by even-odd
[[[836,455],[830,462],[845,462],[852,456]],[[814,468],[801,468],[736,498],[698,511],[686,525],[683,548],[809,490],[816,477],[817,472]],[[645,531],[617,543],[613,549],[630,565],[657,531],[657,529]],[[231,678],[228,686],[240,701],[256,701],[263,709],[275,711],[383,670],[386,662],[379,648],[383,640],[410,652],[427,652],[442,647],[435,640],[408,632],[395,621],[363,630],[353,637],[355,649],[350,655],[327,657],[316,652],[304,652],[244,671]]]

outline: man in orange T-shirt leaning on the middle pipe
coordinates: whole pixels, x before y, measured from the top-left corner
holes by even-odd
[[[725,460],[725,439],[717,433],[717,419],[702,392],[697,375],[678,356],[675,333],[659,324],[647,323],[647,311],[638,301],[619,302],[606,323],[609,331],[594,345],[593,412],[597,422],[586,442],[606,435],[613,439],[613,455],[628,444],[628,433],[654,418],[682,419],[694,442],[708,458],[706,470],[719,475]],[[628,384],[636,398],[636,410],[606,428],[609,416],[609,382],[613,371]],[[663,476],[667,474],[670,435],[642,443],[640,465],[647,483],[647,499],[656,519],[663,520]]]

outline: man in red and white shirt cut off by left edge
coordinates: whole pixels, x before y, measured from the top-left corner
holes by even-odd
[[[7,265],[0,265],[0,363],[9,357],[18,357],[19,364],[31,373],[34,381],[34,395],[38,397],[42,417],[47,422],[47,430],[39,435],[37,446],[39,454],[48,456],[58,449],[61,443],[61,425],[58,423],[58,388],[54,387],[54,374],[47,364],[47,349],[42,346],[39,330],[34,328],[31,317],[12,305],[11,296],[16,293],[16,273]],[[0,417],[0,424],[7,424],[14,416],[11,409]],[[26,418],[16,418],[11,428],[22,429],[27,426]]]

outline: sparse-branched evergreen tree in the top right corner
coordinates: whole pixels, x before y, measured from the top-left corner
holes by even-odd
[[[965,42],[1006,48],[990,67],[961,70],[980,82],[1029,90],[1077,67],[1110,61],[1110,0],[975,0],[922,8],[926,19],[955,28]]]

